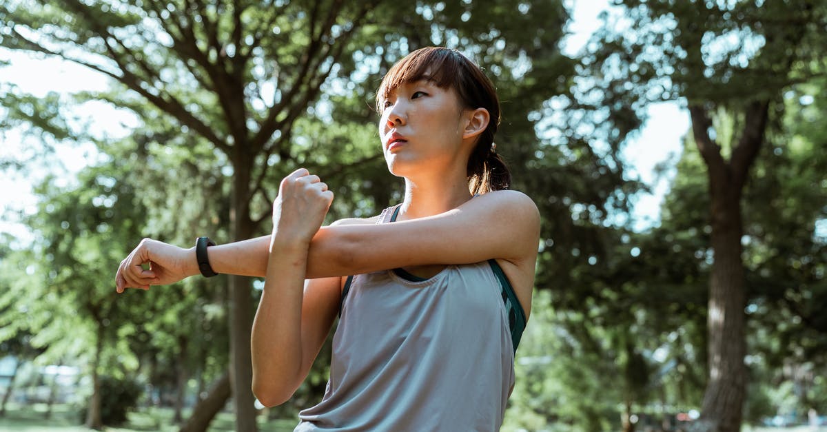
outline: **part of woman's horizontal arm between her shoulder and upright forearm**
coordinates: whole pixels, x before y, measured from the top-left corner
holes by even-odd
[[[519,262],[536,254],[539,228],[531,199],[510,190],[480,195],[428,218],[323,227],[308,253],[308,277],[491,258]]]

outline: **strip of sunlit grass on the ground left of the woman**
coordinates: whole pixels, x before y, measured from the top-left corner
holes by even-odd
[[[0,431],[88,432],[76,406],[55,405],[49,419],[45,418],[45,413],[45,404],[20,406],[9,403],[6,406],[6,415],[0,417]],[[184,416],[187,414],[184,413]],[[179,426],[174,424],[172,418],[173,411],[169,408],[142,408],[129,414],[127,424],[107,427],[106,430],[109,432],[177,431]],[[232,413],[222,411],[213,419],[208,431],[235,430],[234,421]],[[293,430],[298,421],[298,419],[264,420],[260,418],[259,430],[261,432],[288,432]]]

